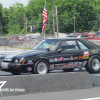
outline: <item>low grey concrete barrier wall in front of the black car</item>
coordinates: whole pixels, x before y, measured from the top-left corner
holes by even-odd
[[[88,72],[0,76],[0,82],[1,97],[93,88]]]

